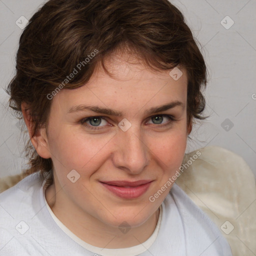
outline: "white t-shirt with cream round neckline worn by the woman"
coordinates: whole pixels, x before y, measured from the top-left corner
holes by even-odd
[[[44,183],[37,172],[0,193],[1,256],[232,256],[216,225],[175,183],[152,235],[120,249],[95,247],[72,233],[48,206]]]

